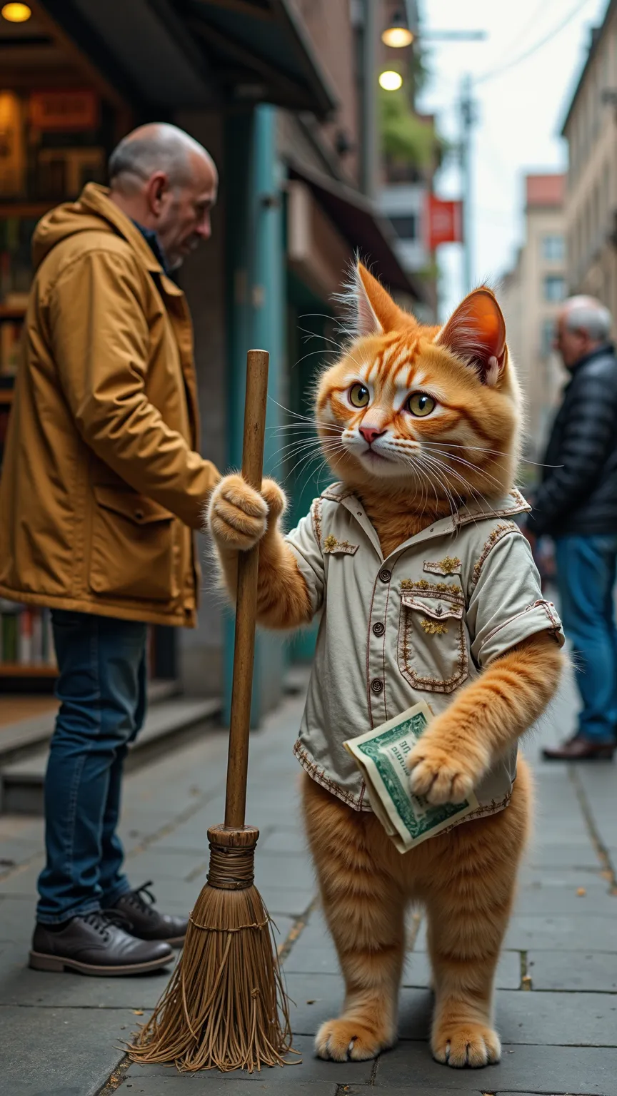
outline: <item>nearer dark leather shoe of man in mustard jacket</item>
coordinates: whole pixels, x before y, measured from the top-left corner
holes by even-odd
[[[32,938],[30,966],[34,970],[77,970],[81,974],[142,974],[173,961],[167,944],[137,940],[121,922],[124,918],[96,911],[72,917],[59,931],[37,923]]]

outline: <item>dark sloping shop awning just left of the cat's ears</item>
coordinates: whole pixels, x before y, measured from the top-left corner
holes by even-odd
[[[418,301],[426,300],[420,279],[406,273],[394,253],[394,229],[369,198],[351,186],[296,161],[290,161],[289,175],[311,189],[315,201],[354,251],[371,264],[371,271],[390,289],[408,294]]]

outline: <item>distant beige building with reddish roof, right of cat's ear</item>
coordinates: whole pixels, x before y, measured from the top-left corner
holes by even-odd
[[[566,293],[564,191],[564,175],[526,175],[525,242],[500,293],[523,387],[525,454],[530,460],[542,453],[563,384],[552,340]],[[527,470],[534,478],[532,466]]]

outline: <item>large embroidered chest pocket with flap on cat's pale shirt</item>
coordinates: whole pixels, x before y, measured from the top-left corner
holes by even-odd
[[[469,672],[463,603],[448,594],[403,593],[399,669],[413,688],[452,693]]]

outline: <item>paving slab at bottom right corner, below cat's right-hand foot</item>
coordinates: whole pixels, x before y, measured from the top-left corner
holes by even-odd
[[[452,1070],[434,1061],[425,1043],[400,1042],[382,1054],[374,1091],[388,1094],[534,1093],[542,1096],[617,1096],[617,1050],[588,1047],[508,1047],[484,1070]],[[347,1096],[347,1093],[345,1094]]]

